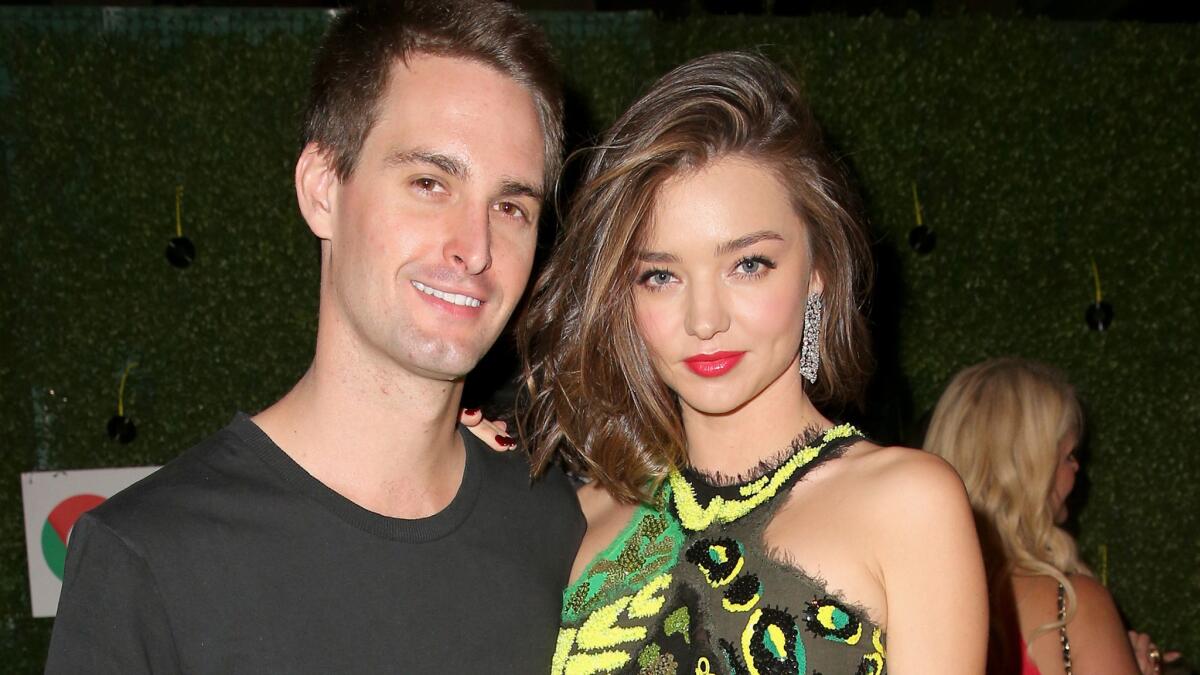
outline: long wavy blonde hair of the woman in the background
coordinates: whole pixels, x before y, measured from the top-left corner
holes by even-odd
[[[925,435],[925,449],[949,461],[966,484],[992,593],[1006,592],[1013,574],[1044,574],[1066,589],[1066,619],[1039,626],[1034,638],[1074,617],[1075,589],[1067,575],[1092,574],[1075,540],[1055,525],[1051,503],[1060,443],[1082,434],[1082,407],[1067,377],[1046,364],[1007,357],[955,375]],[[998,607],[1004,598],[994,599]]]

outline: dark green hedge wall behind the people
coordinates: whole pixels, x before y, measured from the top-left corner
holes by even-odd
[[[908,438],[989,356],[1062,366],[1090,412],[1081,549],[1127,617],[1200,655],[1200,26],[660,22],[541,14],[582,143],[655,76],[757,47],[805,82],[877,237],[881,378]],[[0,8],[0,653],[41,669],[17,474],[163,462],[280,396],[316,328],[292,166],[324,11]],[[907,244],[912,186],[937,234]],[[190,268],[163,251],[182,229]],[[1096,261],[1115,321],[1088,330]],[[107,438],[130,363],[128,444]],[[953,620],[953,617],[947,617]]]

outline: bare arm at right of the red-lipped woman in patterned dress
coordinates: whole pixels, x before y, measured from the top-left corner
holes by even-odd
[[[988,585],[962,482],[935,455],[884,452],[896,455],[881,478],[883,502],[877,506],[887,671],[983,674]]]

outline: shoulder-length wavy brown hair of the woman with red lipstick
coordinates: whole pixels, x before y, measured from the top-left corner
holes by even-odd
[[[774,171],[809,232],[826,304],[809,398],[844,404],[860,394],[870,249],[845,177],[787,74],[756,54],[710,54],[659,79],[593,150],[517,327],[520,429],[539,470],[562,452],[631,502],[685,462],[678,402],[634,321],[632,275],[662,183],[730,155]]]

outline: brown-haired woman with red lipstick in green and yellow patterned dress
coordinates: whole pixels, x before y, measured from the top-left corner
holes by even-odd
[[[557,673],[983,671],[961,482],[821,412],[866,374],[847,203],[752,54],[676,68],[594,151],[517,340],[535,461],[590,478]]]

